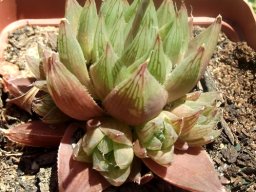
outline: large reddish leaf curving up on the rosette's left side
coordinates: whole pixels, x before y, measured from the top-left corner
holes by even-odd
[[[102,110],[97,106],[87,89],[53,54],[45,63],[47,86],[55,104],[68,116],[88,120],[101,116]]]

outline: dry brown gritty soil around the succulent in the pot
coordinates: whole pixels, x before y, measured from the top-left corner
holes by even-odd
[[[198,31],[196,29],[195,31]],[[56,28],[30,27],[9,36],[5,59],[27,74],[24,52],[40,41],[56,48]],[[201,81],[204,91],[223,94],[221,136],[206,146],[228,191],[256,191],[256,52],[224,34]],[[2,90],[2,89],[1,89]],[[0,127],[8,129],[33,117],[6,103],[1,91]],[[20,147],[0,135],[0,191],[57,191],[57,149]],[[184,191],[159,178],[142,187],[126,184],[106,191]]]

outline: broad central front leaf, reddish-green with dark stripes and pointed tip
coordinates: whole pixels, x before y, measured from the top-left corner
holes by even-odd
[[[138,125],[158,115],[166,104],[166,98],[166,91],[144,63],[109,93],[103,106],[113,117],[129,125]]]

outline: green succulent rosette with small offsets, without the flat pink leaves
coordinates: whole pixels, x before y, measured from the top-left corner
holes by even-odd
[[[152,0],[105,0],[98,10],[94,0],[83,7],[67,0],[65,17],[57,52],[42,45],[28,50],[34,87],[10,102],[32,108],[45,123],[87,121],[77,161],[92,162],[119,186],[134,154],[171,167],[176,149],[220,134],[219,93],[191,91],[217,45],[221,16],[196,37],[193,17],[172,0],[158,9]]]

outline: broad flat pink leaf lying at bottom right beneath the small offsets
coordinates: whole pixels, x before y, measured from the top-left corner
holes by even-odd
[[[209,155],[201,148],[175,150],[169,167],[162,167],[150,159],[143,161],[156,175],[180,188],[190,191],[225,191]]]

